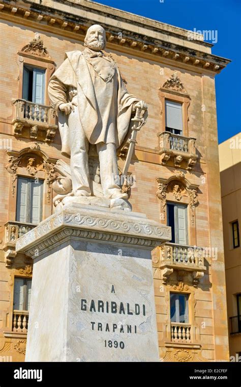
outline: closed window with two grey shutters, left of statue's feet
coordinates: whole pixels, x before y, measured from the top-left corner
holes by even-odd
[[[18,177],[16,221],[38,224],[42,220],[44,180]]]

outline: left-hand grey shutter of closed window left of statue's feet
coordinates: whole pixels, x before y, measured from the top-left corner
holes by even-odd
[[[28,222],[28,179],[18,177],[16,221]]]

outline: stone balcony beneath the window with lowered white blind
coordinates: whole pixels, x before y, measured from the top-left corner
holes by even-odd
[[[159,138],[162,165],[173,158],[175,167],[193,169],[198,159],[195,138],[179,136],[167,131],[159,133]]]

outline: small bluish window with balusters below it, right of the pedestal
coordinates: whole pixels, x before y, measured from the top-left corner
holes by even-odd
[[[188,323],[188,294],[170,293],[171,322]]]

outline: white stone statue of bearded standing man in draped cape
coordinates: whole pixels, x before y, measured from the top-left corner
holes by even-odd
[[[107,207],[128,207],[128,195],[115,178],[119,176],[116,151],[131,136],[132,113],[147,113],[147,106],[128,93],[115,62],[102,51],[105,45],[105,30],[92,25],[86,33],[85,49],[67,53],[49,82],[51,106],[58,112],[62,154],[70,157],[70,169],[64,175],[72,180],[72,185],[66,184],[68,191],[61,179],[55,183],[54,190],[59,193],[56,202],[64,197],[63,204],[89,203],[93,196],[99,196],[99,202],[102,198],[109,203]],[[102,190],[97,192],[97,184],[89,177],[91,144],[96,146],[100,163]]]

